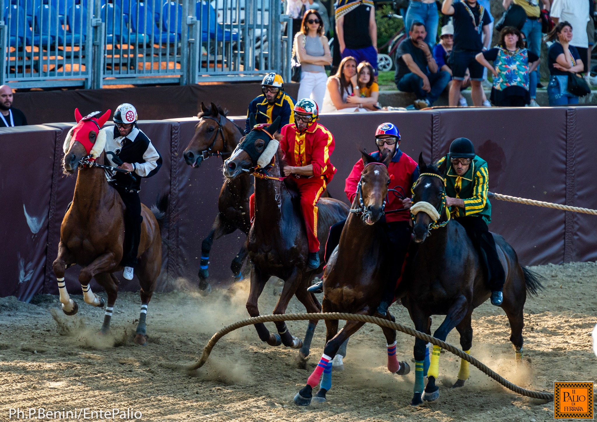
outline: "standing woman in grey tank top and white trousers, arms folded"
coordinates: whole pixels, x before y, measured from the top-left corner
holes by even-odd
[[[294,37],[294,51],[301,66],[297,100],[311,98],[321,110],[327,81],[324,66],[332,63],[332,56],[318,11],[309,9],[305,12],[300,32]]]

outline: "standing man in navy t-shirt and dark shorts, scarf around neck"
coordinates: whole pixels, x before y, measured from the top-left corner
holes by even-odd
[[[470,85],[473,104],[483,105],[483,66],[475,60],[481,51],[487,50],[491,42],[488,11],[477,3],[477,0],[444,0],[442,13],[453,16],[454,47],[450,54],[453,81],[450,85],[450,105],[457,106],[460,99],[460,87],[466,69],[470,72]],[[485,34],[485,45],[483,44]]]

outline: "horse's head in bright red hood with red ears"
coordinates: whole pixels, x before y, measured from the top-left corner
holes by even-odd
[[[65,171],[73,173],[79,167],[82,158],[91,156],[96,159],[101,155],[106,144],[106,137],[100,133],[100,129],[110,118],[111,112],[111,110],[107,110],[101,116],[99,116],[100,112],[94,112],[82,117],[79,109],[75,109],[77,124],[66,135],[63,146]]]

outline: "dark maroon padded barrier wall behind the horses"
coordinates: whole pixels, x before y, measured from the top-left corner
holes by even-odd
[[[401,149],[414,159],[422,152],[427,162],[436,160],[447,152],[451,140],[469,137],[488,161],[493,192],[595,209],[597,188],[591,174],[597,153],[596,113],[597,107],[543,107],[322,115],[321,124],[336,138],[332,162],[338,172],[330,193],[346,201],[344,178],[360,156],[358,147],[373,151],[375,128],[391,121],[400,128]],[[231,119],[242,127],[244,117]],[[196,284],[201,241],[217,213],[221,159],[210,158],[193,169],[182,158],[195,125],[196,118],[139,123],[164,159],[159,173],[143,180],[141,201],[150,207],[158,195],[169,198],[162,229],[160,291]],[[62,144],[71,126],[0,129],[0,189],[5,198],[0,208],[0,238],[5,245],[0,259],[2,296],[30,300],[41,292],[57,293],[51,265],[75,186],[75,177],[64,175],[61,167]],[[597,260],[595,216],[503,201],[492,201],[492,207],[490,229],[512,244],[523,264]],[[231,281],[230,262],[244,238],[237,231],[214,241],[210,255],[214,284]],[[77,294],[78,267],[67,270],[66,278],[70,291]],[[139,289],[136,280],[120,279],[121,290]]]

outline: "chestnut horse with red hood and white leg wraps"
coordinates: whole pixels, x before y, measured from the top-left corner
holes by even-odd
[[[90,115],[91,116],[91,115]],[[64,141],[63,167],[67,173],[79,168],[75,195],[60,227],[58,257],[54,261],[54,274],[58,281],[60,302],[66,315],[75,315],[78,305],[64,285],[64,270],[75,264],[82,267],[79,282],[85,303],[103,307],[104,299],[91,291],[90,281],[95,278],[106,289],[107,307],[102,332],[109,331],[112,310],[118,294],[118,279],[113,273],[122,270],[121,259],[124,242],[124,204],[104,173],[106,134],[100,128],[110,117],[110,110],[103,116],[81,117],[75,110],[77,125]],[[101,167],[100,167],[101,166]],[[112,170],[113,167],[110,167]],[[158,214],[159,210],[155,211]],[[163,218],[163,212],[161,213]],[[141,314],[135,343],[146,344],[147,304],[151,300],[162,265],[162,240],[156,216],[141,204],[141,241],[139,263],[135,274],[141,285]]]

